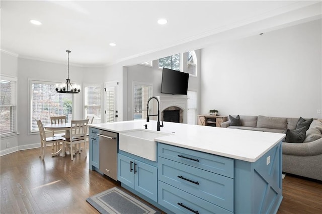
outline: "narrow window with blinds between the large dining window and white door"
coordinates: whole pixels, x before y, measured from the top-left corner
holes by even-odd
[[[85,94],[85,118],[87,116],[94,116],[93,124],[101,123],[101,99],[102,86],[88,85],[84,87]]]

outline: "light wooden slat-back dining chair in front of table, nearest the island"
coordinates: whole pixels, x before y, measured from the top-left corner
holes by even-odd
[[[63,139],[63,147],[62,147],[62,153],[63,156],[65,156],[65,145],[69,144],[70,146],[70,158],[73,160],[73,155],[78,153],[81,153],[80,144],[84,143],[85,147],[85,157],[87,157],[87,148],[86,148],[86,134],[87,134],[87,127],[89,124],[89,119],[85,120],[72,120],[70,122],[70,138],[67,139],[65,137],[62,137]],[[78,144],[78,151],[76,145]],[[75,146],[73,151],[73,146]]]

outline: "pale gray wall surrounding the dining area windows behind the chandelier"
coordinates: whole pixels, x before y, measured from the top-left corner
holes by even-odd
[[[18,56],[2,52],[1,74],[7,74],[18,78],[18,135],[1,139],[0,151],[10,153],[12,151],[39,147],[38,133],[29,133],[29,80],[63,82],[67,78],[66,63],[45,62],[20,58]],[[103,83],[104,68],[79,67],[69,64],[69,77],[73,82],[82,85],[84,83]],[[84,93],[74,94],[73,117],[84,117]],[[10,148],[6,149],[6,143],[10,142]],[[7,150],[7,151],[4,151]]]

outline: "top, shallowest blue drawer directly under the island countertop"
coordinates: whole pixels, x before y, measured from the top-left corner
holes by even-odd
[[[230,178],[234,177],[234,161],[209,153],[158,143],[158,156]]]

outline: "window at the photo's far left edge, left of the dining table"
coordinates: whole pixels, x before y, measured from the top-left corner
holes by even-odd
[[[0,79],[0,136],[17,132],[17,79],[1,76]]]

